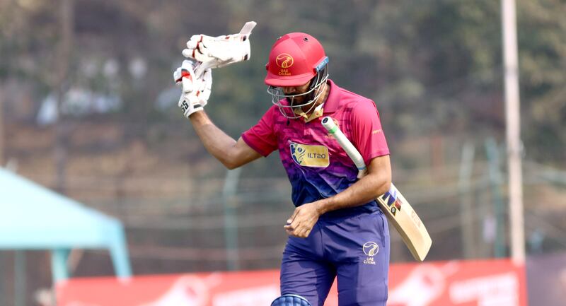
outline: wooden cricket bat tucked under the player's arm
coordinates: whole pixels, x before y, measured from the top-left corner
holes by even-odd
[[[358,168],[358,177],[362,177],[366,173],[366,165],[359,151],[340,131],[332,118],[324,117],[322,124],[334,136],[336,141],[340,143],[340,146],[346,151],[348,156],[352,158],[352,161]],[[427,228],[424,227],[419,216],[417,216],[417,213],[412,209],[412,206],[410,206],[403,194],[391,183],[389,191],[379,196],[376,201],[387,216],[389,223],[393,224],[403,238],[403,242],[409,248],[412,257],[415,257],[417,261],[423,261],[424,257],[427,257],[432,240],[427,232]]]

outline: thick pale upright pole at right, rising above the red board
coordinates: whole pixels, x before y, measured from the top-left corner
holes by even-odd
[[[521,126],[519,110],[519,64],[515,0],[502,0],[503,59],[505,69],[505,121],[509,167],[509,223],[511,255],[515,264],[525,261],[523,177],[521,173]]]

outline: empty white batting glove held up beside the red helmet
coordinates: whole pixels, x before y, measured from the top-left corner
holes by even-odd
[[[238,34],[212,37],[207,35],[192,35],[187,42],[183,55],[195,59],[202,64],[195,69],[200,76],[206,69],[219,68],[238,61],[250,59],[249,37],[255,27],[255,21],[248,21]]]

